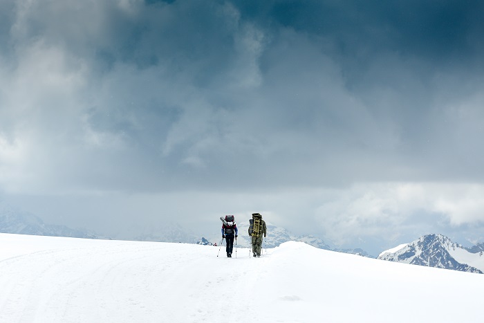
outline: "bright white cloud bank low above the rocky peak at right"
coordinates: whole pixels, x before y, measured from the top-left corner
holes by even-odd
[[[433,230],[442,230],[445,222],[453,226],[484,222],[484,185],[360,183],[324,194],[326,202],[317,207],[315,218],[335,243],[356,237],[397,239],[419,226],[427,230],[429,223]]]

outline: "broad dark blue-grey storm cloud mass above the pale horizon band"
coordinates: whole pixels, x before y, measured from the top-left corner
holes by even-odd
[[[156,190],[163,183],[223,186],[226,178],[242,186],[256,178],[261,185],[467,180],[483,161],[472,149],[483,136],[475,123],[482,117],[476,107],[483,86],[481,7],[19,1],[3,13],[1,37],[9,44],[5,65],[17,66],[20,79],[39,52],[46,59],[59,55],[61,77],[80,78],[71,98],[43,90],[39,101],[79,131],[77,140],[59,145],[90,138],[94,147],[67,154],[81,148],[82,156],[71,158],[97,164],[94,178],[105,181],[96,185]],[[42,72],[30,86],[53,73]],[[77,109],[66,107],[70,99]],[[465,100],[471,102],[463,107]],[[82,125],[72,124],[78,118]],[[45,128],[51,120],[32,122]],[[476,163],[449,173],[464,160],[447,156],[445,146],[457,148],[460,137],[462,153]],[[427,167],[448,157],[447,165]],[[75,166],[80,174],[82,164]],[[122,169],[131,169],[133,181],[115,176]]]

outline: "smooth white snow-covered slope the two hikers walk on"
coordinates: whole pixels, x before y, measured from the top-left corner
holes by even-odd
[[[0,234],[0,322],[482,322],[482,275],[300,242],[218,249]]]

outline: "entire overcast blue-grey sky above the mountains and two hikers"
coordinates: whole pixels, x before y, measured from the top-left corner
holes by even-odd
[[[482,1],[0,2],[0,199],[106,234],[252,212],[484,241]]]

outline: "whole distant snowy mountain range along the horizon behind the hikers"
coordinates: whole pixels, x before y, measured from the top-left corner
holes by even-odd
[[[239,222],[237,223],[237,227],[239,228],[239,236],[236,241],[236,247],[250,248],[248,223]],[[360,248],[333,248],[319,237],[313,237],[311,235],[296,236],[285,228],[280,228],[271,223],[267,223],[267,227],[269,234],[263,242],[263,248],[275,248],[287,241],[301,241],[319,249],[373,257]],[[8,207],[8,205],[0,204],[0,232],[3,233],[89,239],[182,242],[203,245],[217,244],[218,246],[222,242],[225,246],[225,242],[221,239],[218,223],[214,228],[214,232],[206,234],[205,237],[197,235],[192,230],[174,222],[163,223],[158,226],[135,226],[130,229],[131,234],[124,232],[124,234],[119,234],[117,237],[106,237],[102,234],[96,234],[87,230],[68,228],[65,225],[47,224],[38,216],[26,212],[19,212]],[[483,254],[484,243],[477,244],[471,248],[465,248],[441,234],[428,234],[411,243],[381,252],[378,259],[470,273],[484,273]]]

